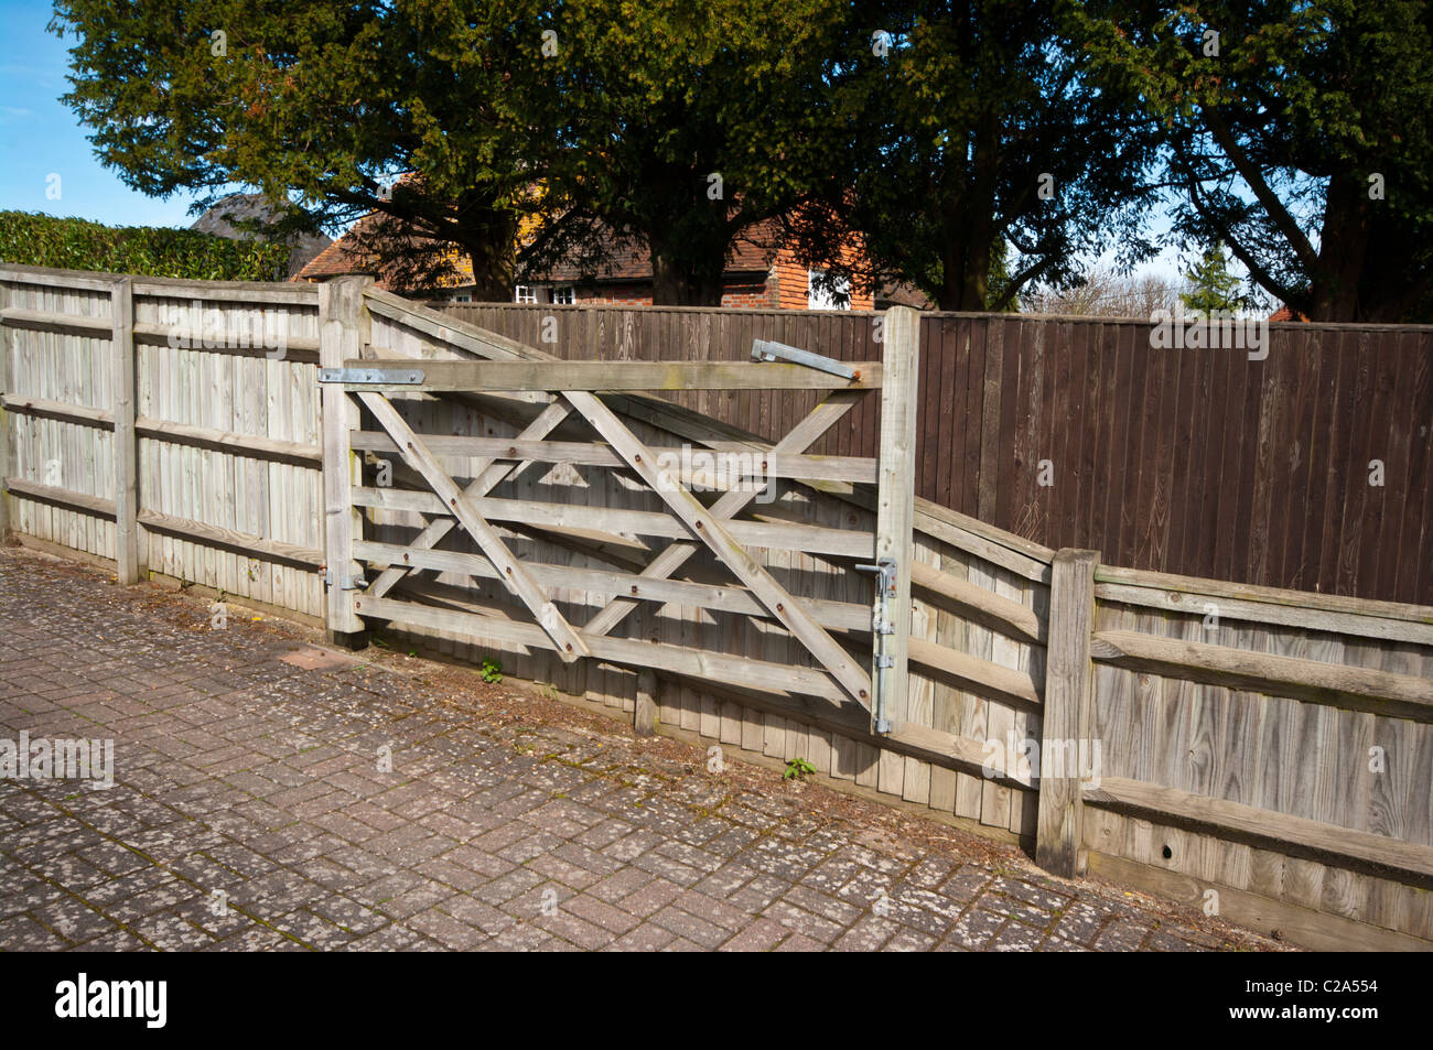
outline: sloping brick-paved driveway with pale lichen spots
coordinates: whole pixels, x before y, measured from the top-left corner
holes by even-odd
[[[0,781],[3,950],[1277,947],[770,769],[708,774],[510,685],[236,607],[214,630],[206,602],[110,580],[0,550],[0,741],[115,741],[107,791]]]

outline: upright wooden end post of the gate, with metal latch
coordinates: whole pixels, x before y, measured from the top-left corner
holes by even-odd
[[[906,721],[910,650],[910,562],[914,556],[911,531],[916,521],[916,400],[920,384],[920,315],[909,307],[891,307],[881,332],[881,434],[876,503],[876,562],[891,559],[887,579],[884,639],[873,639],[871,688],[883,698],[880,708],[888,726],[877,725],[871,706],[871,728],[894,732]],[[877,586],[880,580],[877,577]],[[881,668],[880,653],[890,666]],[[881,685],[884,675],[884,685]]]

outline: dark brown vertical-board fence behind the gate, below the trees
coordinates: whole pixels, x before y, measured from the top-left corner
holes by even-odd
[[[874,314],[436,305],[567,360],[737,361],[754,338],[878,355]],[[1136,569],[1433,605],[1433,327],[1273,324],[1264,360],[1151,329],[921,314],[916,494]],[[810,407],[678,400],[768,440]],[[876,437],[858,411],[817,451]]]

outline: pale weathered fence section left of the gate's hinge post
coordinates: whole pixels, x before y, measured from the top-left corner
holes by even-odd
[[[317,289],[0,281],[0,524],[126,583],[143,569],[321,616]]]

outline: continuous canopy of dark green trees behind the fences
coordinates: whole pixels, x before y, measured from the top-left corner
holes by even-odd
[[[254,188],[292,203],[272,233],[391,216],[377,265],[451,246],[481,298],[642,248],[658,302],[711,304],[775,222],[833,275],[860,244],[857,286],[1006,309],[1146,258],[1168,193],[1179,244],[1313,319],[1433,317],[1424,0],[56,0],[52,27],[130,186]]]

